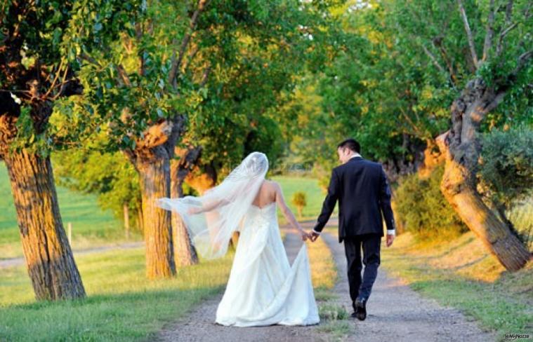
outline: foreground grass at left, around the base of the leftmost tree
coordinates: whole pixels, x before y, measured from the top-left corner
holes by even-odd
[[[82,301],[35,302],[24,267],[0,269],[0,341],[139,341],[223,289],[233,252],[180,268],[176,278],[145,278],[144,249],[88,254],[77,265]]]

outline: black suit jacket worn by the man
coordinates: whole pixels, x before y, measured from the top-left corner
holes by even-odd
[[[322,231],[337,200],[339,242],[367,233],[383,236],[382,213],[387,229],[395,229],[390,186],[380,163],[353,157],[331,171],[327,196],[315,231]]]

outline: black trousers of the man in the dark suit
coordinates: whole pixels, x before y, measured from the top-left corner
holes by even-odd
[[[350,298],[352,301],[355,301],[357,296],[368,299],[372,291],[372,285],[374,285],[374,281],[378,275],[378,267],[381,261],[379,256],[381,235],[374,233],[364,234],[344,238],[343,240],[346,261],[348,262]],[[361,261],[364,264],[364,275],[362,277]]]

